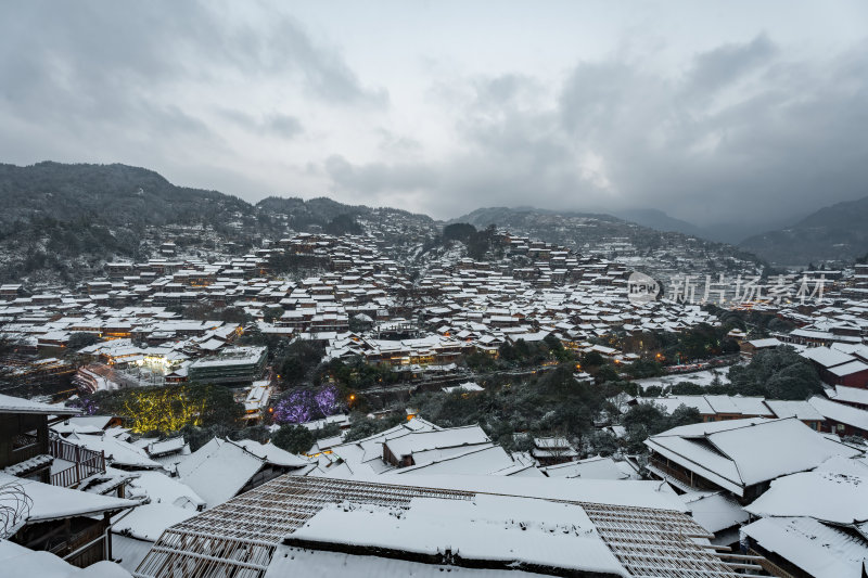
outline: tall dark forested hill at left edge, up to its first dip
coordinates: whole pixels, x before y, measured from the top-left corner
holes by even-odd
[[[69,281],[114,256],[146,257],[149,227],[209,226],[243,241],[230,223],[255,222],[238,197],[126,165],[0,165],[0,279]]]

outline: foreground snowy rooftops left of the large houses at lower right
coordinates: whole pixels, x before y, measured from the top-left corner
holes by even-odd
[[[735,577],[765,563],[715,545],[676,493],[633,470],[602,459],[537,467],[475,426],[417,418],[307,458],[220,438],[190,451],[183,438],[130,438],[111,418],[76,411],[0,396],[10,428],[0,498],[21,504],[2,512],[0,558],[18,567]],[[75,478],[55,472],[94,455]]]

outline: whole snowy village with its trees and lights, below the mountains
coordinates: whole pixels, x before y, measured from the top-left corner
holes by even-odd
[[[868,267],[637,298],[623,259],[371,229],[0,286],[2,555],[51,576],[863,575]]]

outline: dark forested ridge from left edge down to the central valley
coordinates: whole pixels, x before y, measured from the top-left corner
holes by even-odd
[[[398,209],[349,206],[330,198],[268,197],[257,205],[218,191],[178,187],[157,172],[127,165],[44,162],[0,164],[0,282],[71,282],[99,274],[115,258],[145,259],[164,241],[238,251],[258,246],[288,228],[358,230],[397,219],[403,234],[430,235],[434,221]],[[339,219],[340,217],[340,219]],[[337,219],[335,221],[335,219]],[[421,231],[421,233],[419,233]]]

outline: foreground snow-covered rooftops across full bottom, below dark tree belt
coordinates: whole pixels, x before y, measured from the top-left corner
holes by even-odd
[[[478,426],[419,416],[362,439],[321,438],[303,455],[221,438],[191,451],[182,437],[135,438],[111,416],[0,396],[0,492],[29,504],[0,527],[27,549],[18,555],[114,560],[135,576],[341,564],[422,576],[861,576],[868,446],[818,432],[814,399],[653,401],[705,420],[648,438],[646,462],[576,460],[561,438],[510,453]]]

